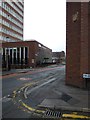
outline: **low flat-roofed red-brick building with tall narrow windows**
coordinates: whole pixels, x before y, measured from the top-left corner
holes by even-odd
[[[36,67],[52,62],[52,50],[36,40],[2,43],[2,48],[3,67]]]

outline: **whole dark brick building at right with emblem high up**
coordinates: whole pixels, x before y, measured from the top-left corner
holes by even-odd
[[[90,2],[66,3],[66,84],[90,85]]]

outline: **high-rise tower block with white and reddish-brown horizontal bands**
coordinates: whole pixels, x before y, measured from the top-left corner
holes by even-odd
[[[23,0],[0,2],[0,42],[23,40]]]

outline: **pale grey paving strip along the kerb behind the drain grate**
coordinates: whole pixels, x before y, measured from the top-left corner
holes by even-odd
[[[81,111],[81,112],[90,112],[90,109],[88,108],[82,108],[82,106],[73,106],[69,103],[60,100],[60,99],[44,99],[38,107],[41,108],[50,108],[50,109],[56,109],[56,110],[68,110],[68,111]]]

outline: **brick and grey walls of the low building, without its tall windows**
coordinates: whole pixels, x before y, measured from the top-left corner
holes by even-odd
[[[39,45],[41,47],[39,47]],[[28,67],[36,67],[38,62],[42,64],[45,60],[44,58],[49,58],[47,62],[52,61],[52,50],[35,40],[3,43],[2,47],[3,48],[28,47],[28,64],[27,64]]]

